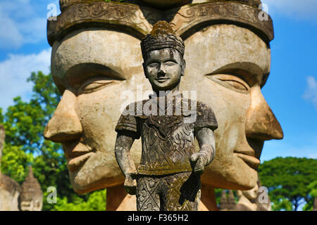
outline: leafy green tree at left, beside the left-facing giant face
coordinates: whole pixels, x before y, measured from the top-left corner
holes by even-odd
[[[89,194],[77,195],[70,186],[61,145],[46,141],[43,137],[44,128],[61,100],[61,95],[51,75],[33,72],[27,81],[33,83],[30,101],[23,101],[18,96],[13,99],[13,105],[8,107],[5,114],[0,108],[0,123],[6,129],[1,172],[21,184],[27,176],[27,166],[32,165],[44,193],[43,210],[56,210],[55,205],[46,202],[49,186],[57,189],[58,200],[61,200],[60,209],[63,200],[67,204],[85,203],[89,200]]]

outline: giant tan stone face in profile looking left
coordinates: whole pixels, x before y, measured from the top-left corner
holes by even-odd
[[[137,101],[128,99],[137,86],[151,90],[139,39],[110,30],[81,30],[55,42],[51,60],[54,82],[63,96],[44,136],[63,144],[74,190],[87,193],[121,184],[115,127],[123,108]],[[140,141],[135,141],[136,162],[140,149]]]

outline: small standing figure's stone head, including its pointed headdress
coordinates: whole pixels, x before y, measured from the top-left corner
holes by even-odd
[[[154,91],[168,91],[180,84],[185,72],[185,45],[166,21],[159,21],[141,42],[143,68]]]

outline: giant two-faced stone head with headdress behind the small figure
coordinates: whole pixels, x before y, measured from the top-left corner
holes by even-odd
[[[63,97],[44,136],[63,143],[70,183],[77,193],[107,188],[107,210],[136,210],[128,204],[134,196],[125,193],[125,176],[113,152],[114,129],[125,106],[148,94],[141,99],[128,96],[137,94],[139,86],[143,92],[151,90],[139,44],[159,20],[168,21],[185,42],[180,91],[197,91],[197,101],[209,105],[218,122],[216,155],[201,176],[199,207],[217,210],[214,188],[256,186],[264,141],[283,137],[261,94],[274,38],[271,17],[259,9],[261,1],[60,4],[62,13],[49,20],[47,32],[53,47],[51,73]],[[136,166],[141,149],[136,140],[131,148]]]

